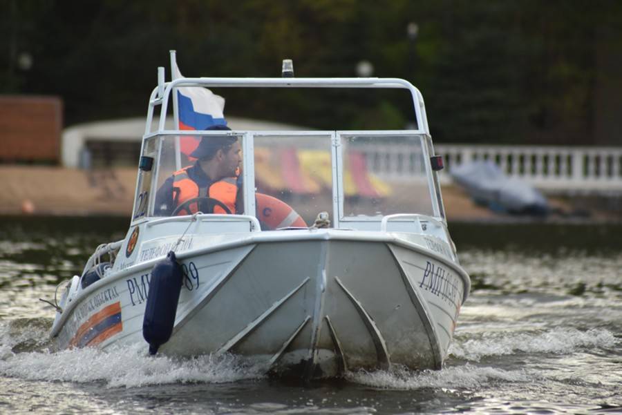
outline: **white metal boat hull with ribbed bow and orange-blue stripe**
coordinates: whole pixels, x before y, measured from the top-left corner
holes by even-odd
[[[469,289],[458,264],[395,238],[304,232],[314,237],[181,253],[176,322],[159,353],[228,352],[304,378],[392,365],[440,369]],[[152,267],[131,267],[77,296],[53,329],[59,347],[142,343],[147,352]]]

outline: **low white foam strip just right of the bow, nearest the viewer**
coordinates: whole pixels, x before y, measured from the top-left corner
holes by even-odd
[[[357,371],[348,374],[348,380],[381,389],[424,388],[478,388],[494,381],[527,382],[531,380],[523,370],[501,370],[473,365],[447,367],[439,371]]]

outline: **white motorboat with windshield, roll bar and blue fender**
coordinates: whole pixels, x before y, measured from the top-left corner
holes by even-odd
[[[181,88],[399,88],[417,123],[400,131],[170,128]],[[195,201],[194,211],[162,214],[158,189],[194,162],[184,143],[216,135],[241,144],[240,211]],[[390,154],[403,157],[399,177],[382,168]],[[59,349],[232,354],[266,374],[305,379],[440,369],[471,284],[449,235],[440,168],[422,95],[404,79],[164,81],[158,68],[126,237],[101,244],[59,287],[50,336]]]

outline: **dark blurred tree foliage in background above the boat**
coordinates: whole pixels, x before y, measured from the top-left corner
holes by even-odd
[[[0,0],[1,93],[64,99],[66,124],[143,115],[156,67],[186,76],[403,77],[439,142],[588,143],[603,33],[598,0]],[[416,37],[407,32],[416,23]],[[32,65],[24,64],[32,57]],[[595,89],[596,88],[596,89]],[[600,87],[601,88],[601,87]],[[225,115],[316,128],[404,128],[411,102],[360,91],[227,90]]]

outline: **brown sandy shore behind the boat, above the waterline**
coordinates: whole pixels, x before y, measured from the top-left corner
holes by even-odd
[[[84,171],[54,166],[0,166],[0,215],[122,215],[131,214],[135,168]],[[496,215],[475,205],[455,186],[444,186],[443,200],[451,221],[506,221],[516,217]],[[569,202],[549,199],[561,211],[572,211]],[[587,207],[586,218],[621,220],[620,214]]]

